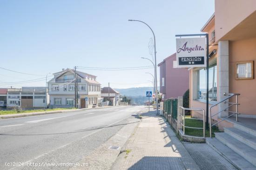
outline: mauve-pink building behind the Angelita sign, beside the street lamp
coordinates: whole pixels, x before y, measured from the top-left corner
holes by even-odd
[[[189,71],[184,68],[174,68],[176,53],[165,58],[158,64],[160,67],[160,93],[163,99],[183,96],[189,89]]]

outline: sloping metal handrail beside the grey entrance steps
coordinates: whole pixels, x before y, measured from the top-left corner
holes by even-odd
[[[222,101],[219,101],[219,102],[217,102],[216,104],[214,104],[214,105],[212,105],[210,108],[209,108],[209,128],[210,128],[210,138],[211,138],[211,135],[212,135],[212,126],[215,126],[215,125],[217,125],[218,123],[220,123],[220,122],[222,122],[223,120],[226,120],[226,119],[228,119],[229,117],[231,117],[231,116],[233,116],[234,114],[236,114],[236,121],[238,121],[238,114],[240,114],[240,113],[238,113],[238,105],[240,105],[239,103],[238,103],[238,95],[240,95],[240,94],[238,94],[238,93],[229,93],[229,94],[226,94],[226,93],[224,93],[224,95],[229,95],[227,98],[225,98],[225,99],[223,99]],[[231,102],[227,102],[227,100],[229,100],[231,97],[233,97],[233,96],[236,96],[236,103],[231,103]],[[219,112],[217,112],[217,113],[215,113],[214,115],[211,115],[211,109],[212,109],[212,107],[215,107],[215,106],[217,106],[218,104],[220,104],[220,103],[228,103],[228,107],[226,107],[226,108],[224,108],[224,109],[222,109],[221,111],[219,111]],[[232,111],[227,111],[227,109],[229,108],[229,107],[232,107],[232,106],[236,106],[236,112],[232,112]],[[213,116],[215,116],[216,114],[218,114],[218,113],[221,113],[221,112],[223,112],[223,111],[227,111],[228,113],[232,113],[232,114],[230,114],[228,117],[226,117],[226,118],[221,118],[221,120],[220,121],[217,121],[215,124],[211,124],[211,118],[213,117]]]

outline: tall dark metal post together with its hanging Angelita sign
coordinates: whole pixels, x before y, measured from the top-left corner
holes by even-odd
[[[175,35],[177,68],[206,67],[206,129],[209,123],[209,35]],[[197,37],[197,38],[183,38]]]

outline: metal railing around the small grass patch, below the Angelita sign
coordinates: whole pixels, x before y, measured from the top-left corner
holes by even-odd
[[[183,110],[183,115],[179,114],[180,116],[182,116],[182,122],[179,122],[182,126],[183,126],[183,135],[185,135],[185,127],[186,128],[191,128],[191,129],[202,129],[203,130],[203,137],[205,138],[205,111],[204,109],[201,108],[185,108],[182,106],[179,106],[180,108],[182,108]],[[186,119],[194,119],[194,120],[202,120],[203,121],[203,127],[190,127],[190,126],[185,126],[185,110],[201,110],[203,112],[203,119],[198,119],[198,118],[186,118]]]

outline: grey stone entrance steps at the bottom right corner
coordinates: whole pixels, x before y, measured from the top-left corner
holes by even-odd
[[[216,132],[215,137],[207,138],[206,143],[231,164],[239,170],[256,170],[255,128],[243,126],[241,122],[234,123],[234,127],[226,127],[224,132]]]

